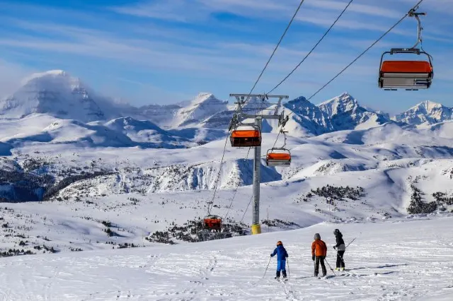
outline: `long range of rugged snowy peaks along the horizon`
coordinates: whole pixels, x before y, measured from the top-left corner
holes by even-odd
[[[430,100],[420,102],[396,117],[390,117],[389,114],[360,105],[348,92],[318,105],[299,96],[285,102],[282,108],[290,115],[287,129],[295,136],[368,129],[388,122],[418,127],[453,119],[452,108]],[[275,109],[275,105],[258,98],[251,98],[243,108],[251,112],[263,110],[263,114],[269,114],[270,109]],[[137,121],[151,122],[162,131],[225,130],[234,113],[234,105],[204,92],[192,100],[176,104],[134,107],[98,95],[80,78],[72,77],[66,71],[52,70],[32,74],[15,93],[0,100],[0,114],[4,118],[22,118],[34,113],[80,122],[108,122],[131,117]],[[273,121],[265,121],[263,131],[278,131],[278,125]]]

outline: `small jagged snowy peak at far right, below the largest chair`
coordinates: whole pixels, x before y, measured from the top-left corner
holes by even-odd
[[[453,109],[437,102],[425,100],[411,107],[406,112],[396,115],[395,119],[398,122],[413,124],[415,126],[436,124],[452,120]]]

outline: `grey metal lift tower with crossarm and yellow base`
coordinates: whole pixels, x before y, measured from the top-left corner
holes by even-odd
[[[236,98],[236,113],[234,113],[231,119],[229,130],[236,129],[237,126],[253,126],[258,127],[261,132],[261,126],[263,119],[277,119],[279,126],[285,126],[288,121],[288,117],[285,117],[283,112],[278,114],[278,110],[282,105],[283,99],[288,99],[288,95],[265,95],[265,94],[230,94],[230,97]],[[263,102],[269,98],[277,98],[278,102],[275,106],[275,112],[272,114],[263,114],[263,110],[260,111],[258,108],[246,108],[246,102],[250,98],[259,98]],[[269,110],[265,108],[264,110]],[[272,110],[272,109],[270,109]],[[251,114],[251,112],[257,112],[257,114]],[[254,119],[253,123],[245,123],[246,119]],[[253,158],[253,216],[252,216],[252,234],[261,233],[260,225],[260,182],[261,182],[261,146],[255,146],[255,156]]]

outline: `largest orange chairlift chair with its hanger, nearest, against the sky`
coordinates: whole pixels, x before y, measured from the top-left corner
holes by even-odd
[[[390,51],[382,54],[379,69],[379,88],[384,88],[384,90],[418,90],[430,88],[432,77],[434,76],[431,56],[423,50],[423,47],[421,51],[415,48],[422,42],[421,32],[423,28],[418,17],[422,15],[425,15],[425,13],[415,13],[414,10],[408,13],[408,16],[415,17],[418,21],[418,40],[413,47],[392,48]],[[424,54],[428,59],[384,61],[385,54]]]

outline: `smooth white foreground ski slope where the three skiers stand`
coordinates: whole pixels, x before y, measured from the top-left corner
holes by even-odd
[[[15,256],[0,261],[1,300],[427,300],[453,294],[451,213],[378,223],[320,223],[301,230],[138,249]],[[315,232],[335,264],[333,230],[347,271],[314,278]],[[277,240],[289,281],[274,280]],[[334,267],[334,266],[333,266]],[[432,300],[441,300],[437,297]]]

